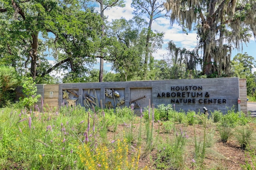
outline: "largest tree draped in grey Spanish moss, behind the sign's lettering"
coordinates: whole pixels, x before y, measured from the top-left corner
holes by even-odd
[[[171,25],[177,21],[191,31],[196,23],[203,75],[230,76],[232,45],[240,49],[242,42],[250,40],[250,31],[256,36],[254,0],[166,0],[164,7],[170,12]]]

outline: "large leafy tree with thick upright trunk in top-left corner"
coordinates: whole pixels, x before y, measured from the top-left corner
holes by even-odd
[[[39,32],[46,32],[46,25],[50,22],[52,13],[56,12],[57,7],[57,3],[53,1],[0,1],[0,12],[5,13],[1,15],[2,22],[7,23],[6,31],[2,32],[0,36],[10,36],[12,41],[18,41],[20,44],[16,46],[18,49],[13,50],[13,47],[10,46],[13,43],[5,39],[7,40],[7,44],[4,45],[6,51],[10,56],[17,56],[20,49],[26,51],[25,64],[27,65],[30,60],[30,76],[34,80],[39,59]]]

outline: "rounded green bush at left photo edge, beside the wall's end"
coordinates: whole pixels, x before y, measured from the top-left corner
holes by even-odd
[[[11,104],[15,97],[14,90],[20,84],[20,76],[13,67],[0,68],[0,107]]]

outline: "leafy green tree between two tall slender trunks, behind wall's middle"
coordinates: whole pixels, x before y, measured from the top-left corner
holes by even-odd
[[[112,37],[107,60],[113,63],[112,70],[119,73],[125,81],[134,78],[141,80],[143,77],[145,25],[145,20],[134,17],[128,21],[124,18],[113,20],[108,27],[107,35],[116,37]]]

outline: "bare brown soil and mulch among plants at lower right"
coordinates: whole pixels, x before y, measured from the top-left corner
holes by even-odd
[[[154,123],[154,130],[153,130],[153,149],[151,150],[150,153],[143,154],[143,146],[142,145],[142,155],[140,157],[139,161],[139,167],[143,168],[147,166],[150,170],[156,170],[156,164],[154,160],[157,157],[157,150],[155,149],[157,142],[170,138],[174,134],[174,131],[170,131],[170,133],[166,133],[164,126],[161,125],[160,123],[160,131],[159,131],[159,136],[157,138],[158,134],[158,123]],[[212,146],[211,147],[206,147],[206,152],[205,152],[205,158],[204,158],[204,165],[202,168],[196,167],[195,164],[193,164],[193,158],[194,158],[194,153],[195,153],[195,136],[194,132],[196,132],[196,139],[197,140],[203,140],[204,137],[204,126],[203,125],[183,125],[183,124],[176,124],[176,129],[182,128],[186,134],[188,134],[188,141],[186,143],[186,151],[185,151],[185,168],[187,170],[195,170],[195,169],[203,169],[203,170],[242,170],[241,165],[246,164],[248,162],[249,164],[252,165],[252,162],[250,160],[250,157],[245,154],[245,150],[241,149],[239,146],[239,143],[237,142],[236,138],[234,135],[228,139],[226,143],[223,143],[220,140],[220,134],[218,133],[216,125],[208,125],[206,128],[206,133],[210,133],[210,130],[214,131],[214,137],[211,139],[212,140]],[[254,123],[249,125],[253,131],[255,132],[256,125]],[[136,131],[138,131],[139,124],[134,124],[133,125],[134,130],[133,133],[136,134]],[[233,134],[236,133],[236,129],[239,127],[236,127],[233,129]],[[124,129],[123,127],[118,127],[118,129]],[[253,134],[255,135],[255,134]],[[113,137],[113,132],[108,133],[108,137]],[[161,139],[161,140],[160,140]],[[209,140],[209,139],[208,139]],[[252,140],[252,144],[255,143],[255,140]],[[254,145],[252,145],[254,147]],[[170,168],[170,170],[173,170],[173,168]]]

